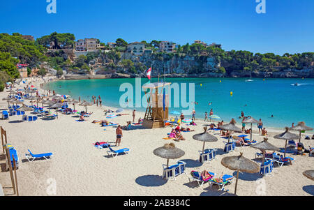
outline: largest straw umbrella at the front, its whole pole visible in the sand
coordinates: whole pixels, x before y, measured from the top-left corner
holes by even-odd
[[[253,162],[252,160],[249,160],[248,158],[245,158],[243,156],[243,153],[240,153],[239,156],[225,157],[221,160],[221,164],[229,168],[230,170],[237,171],[237,181],[236,181],[236,186],[234,188],[234,194],[237,194],[239,172],[246,172],[250,174],[260,172],[260,165]]]

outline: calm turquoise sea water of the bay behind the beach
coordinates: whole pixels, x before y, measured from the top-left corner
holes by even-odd
[[[152,82],[157,80],[153,78]],[[195,83],[197,118],[204,118],[204,112],[209,112],[212,108],[214,114],[227,122],[232,118],[239,122],[238,118],[243,111],[246,116],[252,116],[257,120],[261,118],[266,128],[267,126],[284,128],[298,121],[305,121],[306,125],[314,127],[314,79],[253,78],[253,82],[244,82],[245,80],[245,78],[166,78],[166,82]],[[76,99],[80,96],[81,100],[89,101],[92,95],[100,95],[103,105],[119,107],[119,98],[125,93],[119,92],[119,87],[125,82],[134,85],[135,79],[57,81],[47,83],[45,89],[55,90],[59,94],[67,94]],[[142,78],[142,84],[145,82],[147,78]],[[292,85],[296,82],[299,86]],[[209,102],[212,104],[208,105]],[[137,110],[145,109],[142,107]],[[170,108],[170,111],[174,110],[181,112],[181,108]],[[271,117],[272,114],[274,117]]]

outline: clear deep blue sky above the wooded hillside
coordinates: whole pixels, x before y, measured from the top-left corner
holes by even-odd
[[[221,43],[224,50],[276,54],[314,49],[313,0],[266,0],[266,14],[256,13],[255,0],[57,0],[57,14],[46,12],[48,4],[2,0],[0,33],[38,38],[70,32],[104,43],[203,40]]]

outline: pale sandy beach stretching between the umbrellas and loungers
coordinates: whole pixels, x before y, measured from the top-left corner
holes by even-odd
[[[40,89],[40,83],[43,83],[43,80],[29,80],[33,80],[32,84],[40,92],[43,91]],[[15,85],[15,89],[24,86],[25,84]],[[1,98],[8,96],[6,91],[7,89],[0,93]],[[30,104],[28,100],[26,104]],[[237,147],[234,152],[223,152],[225,146],[223,142],[226,140],[219,136],[218,131],[209,131],[218,137],[218,142],[206,143],[205,148],[217,149],[216,158],[209,163],[201,164],[198,161],[198,151],[202,150],[202,142],[193,140],[192,136],[202,133],[204,124],[208,124],[203,119],[195,121],[197,126],[188,126],[195,131],[184,133],[186,140],[180,142],[163,140],[163,137],[167,137],[167,133],[170,133],[170,127],[151,130],[144,129],[142,126],[133,126],[133,130],[123,131],[120,147],[112,147],[112,149],[128,147],[130,152],[127,155],[111,158],[107,156],[109,149],[97,149],[93,145],[95,142],[108,142],[114,145],[116,140],[116,127],[101,127],[99,123],[91,123],[94,120],[106,119],[104,110],[117,110],[117,107],[104,105],[106,105],[105,100],[103,107],[96,105],[87,107],[88,112],[93,112],[93,114],[86,118],[87,121],[82,122],[77,121],[76,114],[61,113],[58,119],[50,121],[39,118],[33,122],[20,122],[21,116],[10,116],[8,120],[0,120],[1,126],[7,132],[8,143],[15,147],[20,159],[20,168],[17,170],[20,195],[233,195],[235,181],[226,186],[224,192],[219,191],[218,186],[210,187],[208,183],[198,187],[196,182],[189,182],[190,171],[208,170],[216,174],[235,175],[234,171],[221,165],[220,161],[225,156],[239,155],[240,152],[243,152],[246,158],[261,163],[260,158],[255,159],[255,153],[259,150],[251,147]],[[1,100],[1,110],[7,107],[8,103]],[[79,105],[75,105],[75,108],[78,111],[84,110],[84,107]],[[121,126],[126,125],[126,121],[132,120],[132,112],[125,110],[123,114],[129,115],[110,119],[110,121],[119,123]],[[143,118],[144,113],[136,112],[135,120],[137,121],[139,117]],[[236,120],[237,126],[241,128],[239,119]],[[269,142],[283,148],[285,141],[276,140],[273,136],[283,133],[284,129],[267,130]],[[294,133],[297,134],[297,132]],[[304,147],[306,149],[308,146],[314,147],[313,140],[304,140],[305,135],[312,134],[302,133]],[[253,139],[257,142],[263,140],[263,136],[258,134],[256,125],[253,125]],[[178,160],[183,160],[187,165],[186,174],[179,175],[176,180],[167,181],[161,177],[162,165],[167,160],[155,156],[153,151],[170,142],[174,142],[176,147],[185,151],[185,155]],[[30,163],[25,158],[25,153],[28,153],[27,149],[33,153],[52,152],[53,156],[51,160],[34,160]],[[278,167],[275,163],[271,175],[261,177],[258,174],[241,173],[237,195],[314,195],[313,181],[302,174],[305,170],[314,169],[314,158],[309,157],[308,153],[304,156],[293,154],[287,154],[287,156],[295,159],[293,165]],[[10,175],[4,172],[4,160],[0,161],[0,183],[5,195],[11,195],[13,189],[6,188],[10,186]],[[177,160],[170,160],[170,164],[176,162]],[[53,183],[56,186],[55,194],[50,193]]]

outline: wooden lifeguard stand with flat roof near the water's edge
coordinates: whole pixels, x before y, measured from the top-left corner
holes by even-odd
[[[163,128],[168,119],[169,96],[165,94],[165,110],[163,110],[163,89],[168,88],[170,93],[170,82],[154,82],[144,84],[143,89],[147,98],[147,109],[143,119],[144,128]],[[160,88],[160,93],[158,93]]]

